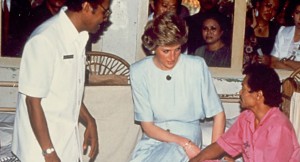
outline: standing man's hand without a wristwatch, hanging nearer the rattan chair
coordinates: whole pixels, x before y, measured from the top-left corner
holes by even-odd
[[[97,134],[97,126],[95,120],[91,120],[86,125],[86,130],[84,132],[84,140],[83,140],[83,150],[87,151],[88,145],[90,145],[91,150],[89,153],[90,158],[95,158],[98,154],[98,134]]]

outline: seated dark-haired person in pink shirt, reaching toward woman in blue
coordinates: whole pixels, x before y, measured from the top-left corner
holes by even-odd
[[[215,143],[190,162],[218,159],[228,153],[244,162],[299,162],[300,146],[289,119],[279,110],[280,80],[262,64],[245,68],[240,90],[243,112]]]

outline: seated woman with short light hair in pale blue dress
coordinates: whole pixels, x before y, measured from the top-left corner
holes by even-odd
[[[181,54],[187,26],[166,12],[148,22],[143,46],[153,55],[130,67],[135,120],[143,135],[131,162],[186,162],[200,152],[200,119],[214,119],[212,141],[225,114],[205,61]]]

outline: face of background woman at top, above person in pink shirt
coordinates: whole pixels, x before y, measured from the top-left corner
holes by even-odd
[[[263,0],[259,3],[259,17],[265,21],[270,21],[276,15],[279,7],[279,0]]]

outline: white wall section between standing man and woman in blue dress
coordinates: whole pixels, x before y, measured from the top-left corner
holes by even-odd
[[[141,33],[147,22],[148,0],[113,0],[112,25],[92,49],[117,54],[130,64],[143,57]],[[141,56],[137,56],[142,54]]]

